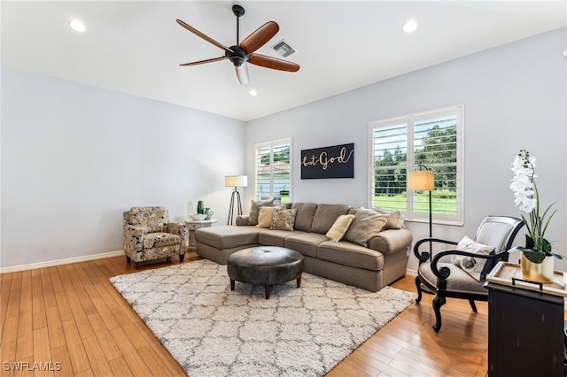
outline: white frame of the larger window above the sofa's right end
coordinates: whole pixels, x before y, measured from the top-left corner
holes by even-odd
[[[464,104],[456,104],[453,106],[442,107],[439,109],[426,110],[423,112],[415,112],[411,114],[406,114],[398,117],[392,117],[388,119],[373,120],[369,122],[369,176],[368,176],[368,205],[369,208],[378,208],[375,206],[375,129],[400,126],[400,123],[405,123],[407,125],[406,131],[406,164],[405,170],[406,174],[409,171],[414,170],[416,166],[415,161],[415,148],[414,142],[416,140],[415,135],[415,125],[416,122],[423,119],[432,119],[433,117],[443,116],[443,115],[455,115],[457,118],[456,125],[456,213],[455,214],[440,214],[435,213],[434,202],[432,204],[432,221],[437,224],[447,224],[447,225],[458,225],[462,226],[464,224]],[[403,166],[403,165],[401,165]],[[402,167],[404,169],[404,167]],[[404,213],[405,219],[408,221],[416,222],[429,222],[429,212],[415,212],[414,211],[414,197],[415,191],[410,191],[407,188],[407,175],[406,175],[406,212]]]

